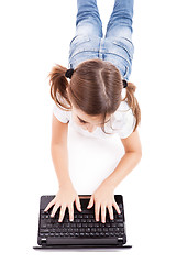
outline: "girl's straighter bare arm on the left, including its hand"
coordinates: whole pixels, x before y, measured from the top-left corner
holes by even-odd
[[[67,132],[68,123],[61,122],[53,114],[51,151],[53,164],[58,179],[59,190],[55,198],[47,205],[45,211],[54,206],[51,215],[51,217],[54,217],[57,209],[61,207],[59,222],[63,221],[67,207],[69,210],[69,220],[74,220],[74,202],[76,202],[77,209],[81,210],[79,197],[69,177]]]

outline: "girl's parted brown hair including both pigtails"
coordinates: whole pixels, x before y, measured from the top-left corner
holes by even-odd
[[[128,82],[127,95],[122,99],[123,82],[119,69],[113,64],[99,58],[85,61],[74,69],[70,82],[65,77],[66,70],[67,68],[56,64],[48,75],[51,97],[61,109],[69,111],[74,103],[86,114],[101,114],[101,129],[106,133],[107,114],[112,114],[121,101],[127,101],[136,119],[135,131],[141,121],[140,106],[134,96],[136,87]]]

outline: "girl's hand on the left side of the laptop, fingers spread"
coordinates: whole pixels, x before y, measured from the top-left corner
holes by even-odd
[[[54,217],[57,209],[61,207],[58,222],[62,222],[65,216],[65,210],[68,207],[69,221],[74,221],[74,201],[76,201],[77,209],[81,211],[80,200],[73,185],[72,184],[64,185],[63,187],[59,188],[57,195],[47,205],[44,211],[46,212],[53,205],[55,205],[51,213],[51,217]]]

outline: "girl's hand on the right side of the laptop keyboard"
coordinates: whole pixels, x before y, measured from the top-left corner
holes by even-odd
[[[88,204],[88,209],[94,206],[95,202],[95,216],[96,221],[99,221],[99,210],[101,208],[101,221],[106,222],[106,210],[108,207],[110,219],[113,220],[113,210],[112,206],[116,208],[117,212],[120,215],[120,209],[118,204],[114,200],[113,189],[108,182],[102,182],[101,185],[96,189],[91,195],[90,201]]]

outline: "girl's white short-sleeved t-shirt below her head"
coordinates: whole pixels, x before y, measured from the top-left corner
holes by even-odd
[[[86,136],[92,136],[92,138],[101,138],[106,139],[107,136],[111,136],[111,134],[106,134],[100,127],[97,127],[97,129],[94,132],[89,132],[88,130],[84,130],[80,125],[78,125],[73,120],[73,112],[66,111],[61,109],[58,106],[54,103],[53,108],[54,116],[63,123],[68,123],[79,133],[86,135]],[[120,139],[128,138],[134,130],[135,127],[135,117],[132,113],[131,108],[129,107],[127,101],[121,101],[119,108],[117,111],[111,114],[110,121],[108,121],[105,124],[105,131],[108,133],[118,133]],[[111,129],[113,128],[113,130]]]

